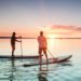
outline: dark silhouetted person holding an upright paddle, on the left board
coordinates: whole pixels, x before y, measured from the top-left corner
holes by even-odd
[[[15,41],[22,42],[22,41],[16,40],[17,38],[21,38],[21,39],[22,39],[22,37],[17,37],[17,38],[16,38],[15,36],[16,36],[16,33],[13,32],[13,33],[12,33],[12,37],[11,37],[12,56],[14,56]]]

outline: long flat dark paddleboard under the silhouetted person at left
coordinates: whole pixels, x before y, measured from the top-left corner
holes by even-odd
[[[1,55],[0,58],[39,58],[39,55],[33,55],[33,56],[22,56],[22,55],[10,56],[10,55]]]

